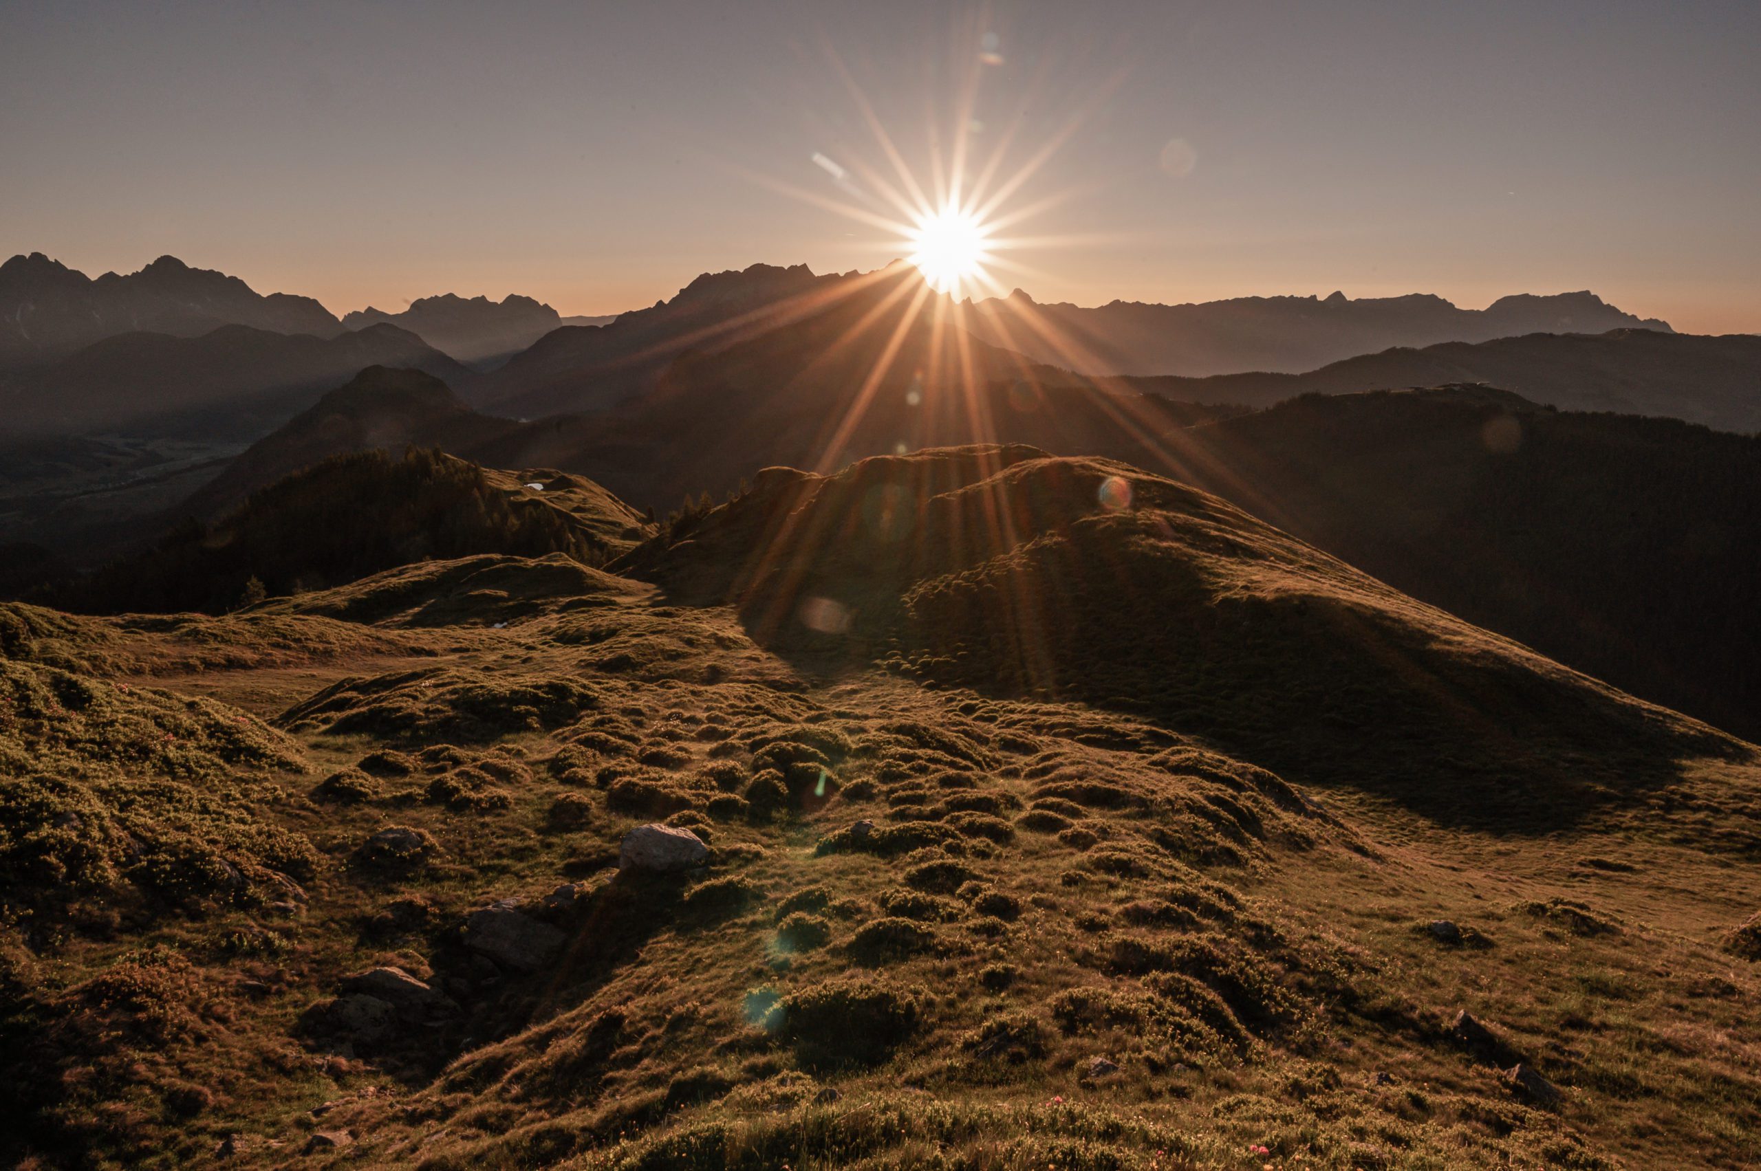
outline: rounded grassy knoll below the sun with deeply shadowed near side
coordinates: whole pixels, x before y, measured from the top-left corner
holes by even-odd
[[[1652,799],[1684,754],[1745,752],[1102,460],[977,447],[773,468],[673,541],[625,563],[682,600],[733,602],[761,643],[1139,713],[1444,821],[1544,831]]]

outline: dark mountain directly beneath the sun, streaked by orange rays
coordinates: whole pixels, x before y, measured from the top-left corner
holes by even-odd
[[[576,470],[664,509],[699,490],[726,493],[764,465],[835,470],[974,440],[1115,451],[1132,430],[1213,414],[1035,368],[960,333],[951,315],[937,319],[939,301],[919,294],[909,266],[836,278],[821,285],[814,312],[798,301],[785,324],[687,352],[601,414],[542,419],[461,454]]]

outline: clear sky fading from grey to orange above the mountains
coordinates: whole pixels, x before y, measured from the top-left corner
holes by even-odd
[[[1757,0],[0,0],[0,250],[338,313],[875,268],[778,190],[886,166],[838,62],[925,178],[972,74],[1002,174],[1078,120],[1004,204],[1057,201],[1000,275],[1041,301],[1594,289],[1761,333]]]

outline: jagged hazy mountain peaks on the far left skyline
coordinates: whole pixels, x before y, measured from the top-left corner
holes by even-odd
[[[139,273],[88,278],[41,252],[0,264],[0,366],[49,361],[118,333],[188,338],[217,326],[329,338],[342,324],[312,298],[261,296],[227,276],[162,255]]]

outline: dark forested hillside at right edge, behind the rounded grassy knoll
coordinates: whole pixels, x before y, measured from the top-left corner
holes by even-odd
[[[1310,394],[1166,454],[1414,597],[1761,736],[1757,438],[1440,387]]]

